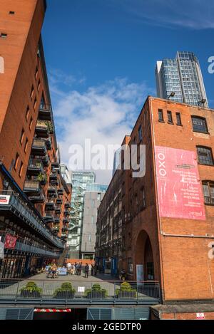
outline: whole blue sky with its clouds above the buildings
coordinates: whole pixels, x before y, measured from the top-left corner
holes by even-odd
[[[120,144],[146,95],[156,95],[156,61],[174,58],[178,50],[198,56],[214,107],[214,74],[208,73],[213,0],[47,3],[44,49],[64,162],[70,145],[83,145],[85,137],[94,144]],[[97,175],[98,182],[108,182],[111,172]]]

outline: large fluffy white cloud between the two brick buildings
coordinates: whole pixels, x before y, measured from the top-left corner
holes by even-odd
[[[66,164],[71,157],[69,147],[83,145],[86,138],[91,139],[91,145],[121,145],[123,137],[131,133],[146,96],[153,93],[146,83],[128,83],[126,78],[69,93],[61,91],[56,80],[53,82],[51,95],[55,100],[56,132],[61,160]],[[97,182],[110,180],[111,171],[96,171]]]

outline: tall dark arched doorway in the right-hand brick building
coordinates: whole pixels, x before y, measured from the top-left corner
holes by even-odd
[[[141,231],[136,241],[136,279],[143,281],[155,279],[153,249],[146,231]]]

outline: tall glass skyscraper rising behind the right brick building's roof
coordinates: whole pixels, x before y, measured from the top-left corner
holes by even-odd
[[[156,83],[158,98],[208,108],[200,64],[193,52],[178,51],[175,59],[158,61]]]

